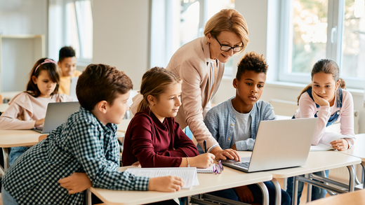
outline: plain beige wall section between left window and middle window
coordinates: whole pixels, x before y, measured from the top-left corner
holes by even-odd
[[[150,58],[150,1],[93,1],[93,63],[116,66],[140,88]]]

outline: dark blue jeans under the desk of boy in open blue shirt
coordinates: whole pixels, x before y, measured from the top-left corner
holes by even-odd
[[[276,199],[276,191],[274,185],[272,184],[271,181],[265,181],[264,183],[267,187],[267,190],[269,191],[269,204],[274,205]],[[255,184],[247,185],[247,187],[252,192],[254,202],[263,204],[263,193],[261,192],[260,187]],[[238,196],[236,192],[234,192],[234,189],[220,190],[216,192],[210,192],[208,194],[239,202]],[[290,203],[291,203],[291,198],[289,197],[288,193],[284,190],[281,190],[281,205],[289,205]]]

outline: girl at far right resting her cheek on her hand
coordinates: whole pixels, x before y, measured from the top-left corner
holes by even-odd
[[[298,97],[299,109],[293,118],[318,118],[312,145],[326,139],[333,149],[343,151],[354,146],[354,102],[350,92],[345,90],[345,80],[339,77],[340,69],[331,59],[320,59],[312,69],[312,83],[302,90]],[[341,122],[341,134],[326,132],[326,127]],[[314,173],[323,176],[322,172]],[[326,170],[328,177],[328,170]],[[293,177],[288,178],[287,190],[293,196]],[[298,183],[298,204],[303,192],[303,182]],[[326,190],[312,186],[312,200],[326,196]]]

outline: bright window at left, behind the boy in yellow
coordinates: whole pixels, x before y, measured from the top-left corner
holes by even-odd
[[[90,0],[49,0],[48,56],[58,59],[60,48],[71,45],[77,64],[93,59],[93,16]]]

